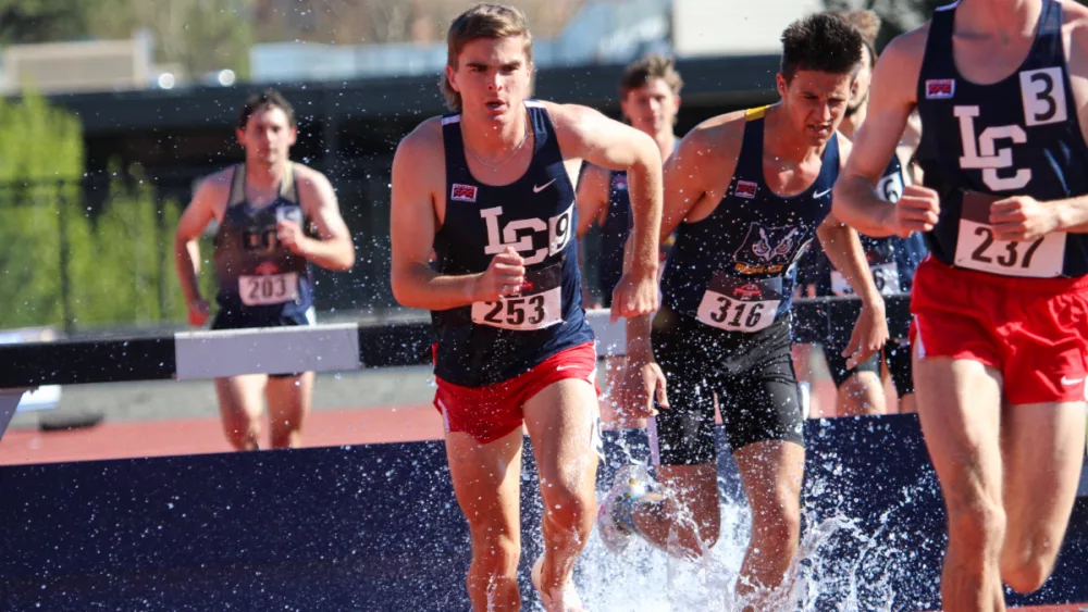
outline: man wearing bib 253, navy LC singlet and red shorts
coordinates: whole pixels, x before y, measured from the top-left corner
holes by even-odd
[[[469,9],[447,47],[455,114],[423,122],[393,162],[393,290],[431,310],[437,332],[435,407],[472,536],[473,609],[520,607],[524,423],[546,509],[533,585],[549,612],[582,610],[571,572],[593,527],[599,438],[574,177],[582,159],[628,171],[633,250],[613,313],[636,316],[658,301],[662,158],[652,138],[601,113],[529,99],[532,38],[517,9]]]

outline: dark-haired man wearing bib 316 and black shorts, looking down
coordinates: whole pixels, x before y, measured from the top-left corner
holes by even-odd
[[[614,551],[633,535],[683,557],[715,544],[721,520],[712,396],[718,394],[752,505],[737,589],[756,609],[765,607],[752,601],[754,594],[782,583],[799,544],[804,415],[790,361],[790,309],[795,264],[813,238],[860,289],[851,365],[888,335],[861,242],[829,214],[850,147],[836,127],[861,59],[860,35],[818,14],[791,24],[782,42],[781,101],[704,122],[666,167],[660,236],[677,229],[677,241],[653,332],[648,317],[629,321],[625,385],[638,396],[631,404],[651,414],[656,387],[662,411],[651,435],[666,494],[646,495],[647,483],[625,469],[598,522]]]

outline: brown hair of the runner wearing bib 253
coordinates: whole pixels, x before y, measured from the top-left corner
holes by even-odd
[[[514,7],[502,4],[477,4],[465,11],[449,24],[446,33],[446,65],[457,70],[457,57],[461,49],[478,38],[512,38],[521,36],[526,39],[526,59],[533,62],[533,35],[529,32],[526,15]],[[446,71],[442,71],[438,82],[446,107],[454,112],[461,112],[461,95],[449,85]]]

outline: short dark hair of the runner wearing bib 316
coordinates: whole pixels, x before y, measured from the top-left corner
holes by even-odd
[[[834,15],[802,17],[782,33],[782,77],[787,83],[798,71],[852,74],[861,61],[861,33]]]

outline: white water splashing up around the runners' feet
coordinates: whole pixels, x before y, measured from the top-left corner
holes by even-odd
[[[720,485],[721,483],[719,483]],[[911,489],[925,486],[918,483]],[[897,603],[894,578],[902,571],[898,559],[911,557],[897,538],[894,515],[910,500],[888,509],[881,527],[864,530],[856,519],[841,510],[821,521],[805,512],[799,553],[783,585],[749,598],[735,595],[735,585],[751,536],[751,512],[743,497],[721,504],[721,535],[709,554],[682,561],[652,547],[642,538],[622,555],[605,549],[596,529],[576,570],[582,600],[594,612],[659,612],[671,610],[755,610],[789,612],[892,612]],[[690,520],[690,519],[689,519]],[[899,540],[899,541],[897,541]]]

